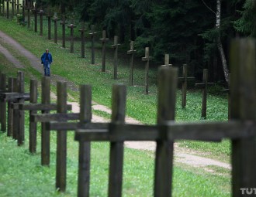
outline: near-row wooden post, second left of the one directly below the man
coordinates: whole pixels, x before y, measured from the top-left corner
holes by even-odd
[[[17,80],[18,80],[18,93],[25,93],[25,87],[24,87],[24,73],[21,71],[18,71],[18,76],[17,76]],[[23,97],[20,97],[18,99],[19,104],[24,103],[25,99]],[[18,117],[19,117],[19,121],[18,121],[18,146],[21,146],[24,144],[24,139],[25,139],[25,114],[24,111],[19,110],[18,111]]]

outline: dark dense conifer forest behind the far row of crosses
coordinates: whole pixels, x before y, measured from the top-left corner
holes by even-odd
[[[29,0],[26,0],[26,3]],[[209,69],[209,79],[229,84],[229,46],[236,37],[256,37],[255,0],[36,0],[42,8],[135,42],[137,56],[162,63],[186,63],[195,76]]]

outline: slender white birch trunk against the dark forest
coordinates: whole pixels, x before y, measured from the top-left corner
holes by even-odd
[[[221,1],[222,0],[216,0],[216,3],[217,3],[216,29],[218,30],[218,36],[216,37],[216,43],[217,43],[217,47],[218,47],[219,53],[220,53],[220,59],[221,59],[221,63],[222,63],[222,66],[223,66],[223,72],[224,72],[225,80],[227,81],[228,84],[230,84],[229,70],[227,68],[227,59],[226,59],[224,49],[223,49],[223,45],[222,45],[222,42],[221,42],[221,39],[220,39]]]

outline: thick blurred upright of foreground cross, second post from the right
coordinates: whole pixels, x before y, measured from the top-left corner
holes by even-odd
[[[161,125],[165,121],[175,120],[178,70],[161,68],[159,76],[157,124]],[[161,139],[157,140],[154,169],[154,196],[171,196],[174,141],[166,138],[167,131],[160,132]]]

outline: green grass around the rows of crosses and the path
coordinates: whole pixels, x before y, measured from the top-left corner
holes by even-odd
[[[46,21],[44,21],[46,25]],[[59,26],[60,28],[60,26]],[[54,56],[51,71],[54,74],[73,81],[77,86],[82,83],[92,85],[93,100],[99,104],[111,107],[112,84],[129,84],[129,67],[127,56],[120,53],[118,67],[119,80],[113,80],[112,74],[112,49],[111,41],[108,42],[106,73],[101,70],[101,49],[97,43],[95,54],[95,65],[91,64],[90,48],[87,43],[85,49],[86,58],[80,58],[80,43],[75,42],[74,54],[69,53],[67,48],[61,47],[53,40],[47,40],[46,28],[43,37],[28,30],[26,27],[17,25],[16,22],[0,18],[0,29],[7,32],[9,36],[19,41],[22,46],[29,49],[40,59],[44,49],[49,48]],[[61,32],[59,30],[59,32]],[[2,44],[2,42],[0,41]],[[7,49],[19,59],[26,67],[22,69],[25,74],[26,90],[29,90],[29,78],[31,76],[40,80],[40,73],[31,68],[27,59],[19,56],[16,49],[6,46]],[[0,70],[7,75],[16,76],[16,68],[0,54]],[[126,114],[143,122],[144,124],[155,124],[157,120],[157,69],[150,66],[150,93],[144,94],[144,69],[138,60],[134,70],[134,84],[127,86]],[[51,87],[56,93],[56,87]],[[78,100],[78,92],[68,90],[69,95]],[[73,100],[73,99],[72,99]],[[108,117],[109,114],[94,110],[95,114]],[[28,117],[26,116],[26,119]],[[198,90],[188,91],[187,107],[181,107],[181,91],[177,91],[176,121],[204,121],[201,119],[201,93]],[[227,121],[227,97],[210,93],[208,97],[207,120]],[[28,121],[26,121],[27,123]],[[28,125],[26,124],[26,140],[28,139]],[[78,170],[78,142],[74,141],[72,132],[68,133],[67,144],[67,192],[59,194],[54,190],[55,177],[55,152],[56,134],[51,134],[51,164],[50,168],[40,166],[40,154],[30,155],[27,145],[18,148],[16,141],[6,138],[0,134],[0,195],[1,196],[74,196],[77,189]],[[26,141],[28,144],[28,141]],[[40,132],[38,134],[38,151],[40,152]],[[216,157],[227,157],[230,155],[230,141],[222,143],[202,143],[195,141],[180,141],[180,145],[194,150],[206,151],[216,154]],[[92,196],[106,196],[109,165],[109,144],[92,143]],[[19,168],[18,168],[19,167]],[[154,155],[147,151],[125,149],[123,196],[151,196],[153,192]],[[36,183],[35,183],[36,180]],[[22,183],[22,184],[21,184]],[[10,186],[12,185],[12,186]],[[192,189],[191,189],[192,188]],[[213,175],[201,169],[174,168],[174,196],[229,196],[230,178],[223,175]],[[36,191],[36,193],[35,193]],[[20,193],[20,195],[19,195]]]

